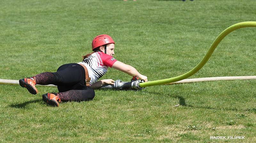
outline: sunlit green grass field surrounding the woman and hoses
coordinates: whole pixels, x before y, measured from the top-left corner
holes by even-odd
[[[256,21],[255,0],[0,2],[0,79],[19,80],[80,62],[99,34],[114,57],[149,81],[184,74],[228,26]],[[256,75],[256,28],[230,33],[190,78]],[[129,81],[109,68],[102,79]],[[96,90],[87,102],[47,106],[19,85],[0,85],[0,142],[256,142],[256,81]],[[175,105],[180,104],[178,107]],[[210,136],[245,136],[211,140]]]

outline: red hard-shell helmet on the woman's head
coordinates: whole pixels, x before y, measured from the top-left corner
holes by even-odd
[[[103,46],[110,43],[115,44],[114,40],[109,35],[107,34],[98,35],[92,40],[92,50],[99,46]]]

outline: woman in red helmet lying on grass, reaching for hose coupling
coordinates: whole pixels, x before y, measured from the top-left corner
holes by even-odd
[[[140,80],[148,81],[147,76],[141,75],[135,68],[117,61],[115,42],[106,34],[96,36],[92,40],[93,53],[83,56],[79,63],[69,63],[60,66],[57,72],[44,72],[29,78],[20,79],[20,86],[25,87],[31,94],[37,94],[36,84],[57,85],[59,93],[46,93],[43,100],[49,105],[59,106],[62,101],[86,101],[95,96],[93,89],[105,84],[114,84],[112,79],[98,81],[107,73],[108,67],[118,69]]]

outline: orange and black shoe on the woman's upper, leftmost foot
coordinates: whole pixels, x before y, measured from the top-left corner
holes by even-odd
[[[35,86],[36,85],[35,77],[20,79],[19,83],[21,87],[25,87],[26,89],[28,89],[28,91],[31,94],[36,94],[38,92]]]

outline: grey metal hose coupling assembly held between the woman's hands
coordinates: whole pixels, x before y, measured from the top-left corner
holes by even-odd
[[[114,82],[114,85],[105,84],[101,86],[100,89],[141,90],[141,89],[144,89],[139,86],[139,83],[142,83],[142,82],[144,81],[141,81],[136,77],[133,77],[131,79],[131,82],[122,82],[120,79],[118,79]]]

